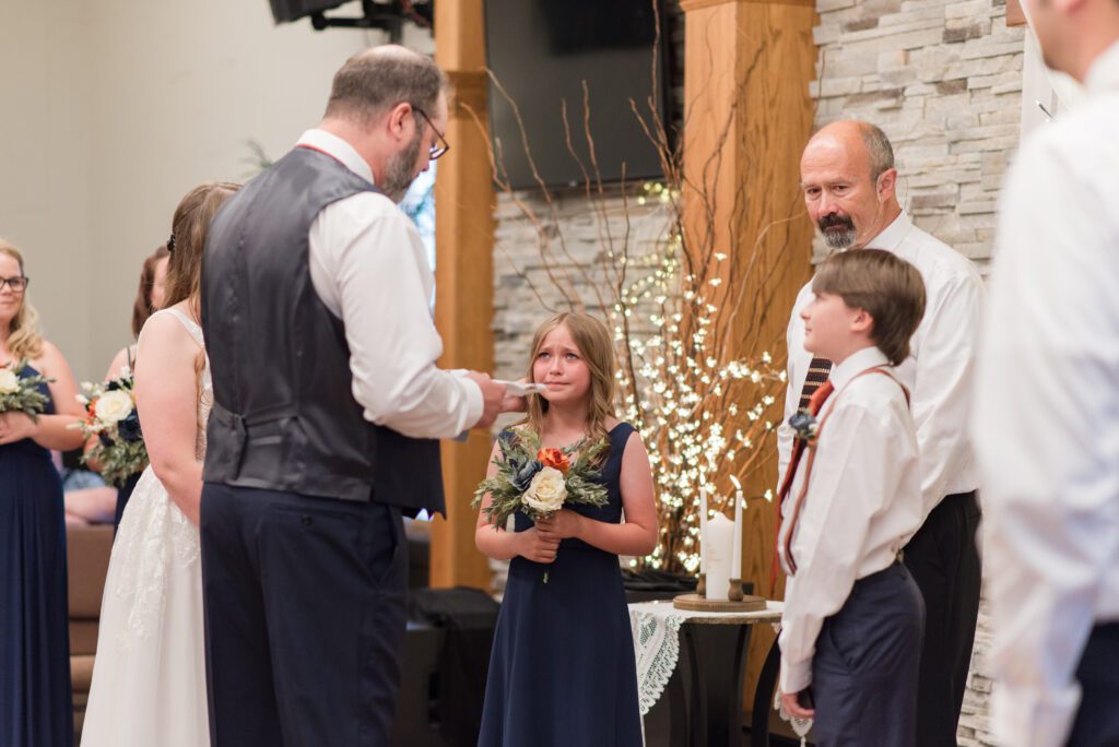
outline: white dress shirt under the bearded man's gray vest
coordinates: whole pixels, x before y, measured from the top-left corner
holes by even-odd
[[[373,182],[369,164],[341,138],[308,130],[298,144]],[[346,327],[365,418],[414,438],[472,427],[481,389],[435,367],[443,352],[429,305],[435,278],[412,221],[384,195],[358,192],[325,207],[309,238],[311,283]]]

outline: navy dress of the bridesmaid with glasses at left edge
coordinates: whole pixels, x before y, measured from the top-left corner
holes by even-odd
[[[74,744],[64,514],[50,452],[0,446],[0,745]]]

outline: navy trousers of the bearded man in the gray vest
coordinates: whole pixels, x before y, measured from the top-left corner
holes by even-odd
[[[405,625],[399,511],[206,483],[214,747],[388,744]]]

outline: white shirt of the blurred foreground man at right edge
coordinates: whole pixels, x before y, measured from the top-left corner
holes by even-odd
[[[1119,44],[1085,83],[1007,174],[972,420],[1015,747],[1064,744],[1089,632],[1119,620]]]

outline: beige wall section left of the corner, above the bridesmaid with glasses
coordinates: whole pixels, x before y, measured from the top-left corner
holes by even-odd
[[[47,333],[85,363],[90,76],[76,4],[0,0],[0,236],[27,258]]]

